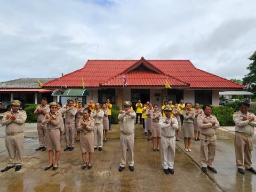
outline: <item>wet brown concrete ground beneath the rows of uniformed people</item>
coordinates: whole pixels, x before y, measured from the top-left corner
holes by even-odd
[[[44,171],[47,152],[38,147],[36,124],[26,124],[25,157],[19,172],[11,169],[0,173],[1,191],[256,191],[256,175],[237,173],[234,154],[234,132],[218,131],[214,167],[217,174],[204,174],[199,167],[199,141],[192,142],[192,152],[183,151],[183,140],[177,142],[173,175],[166,175],[161,153],[152,150],[151,141],[143,135],[142,126],[135,127],[134,172],[128,167],[118,172],[120,163],[119,126],[113,125],[102,151],[95,151],[93,168],[81,170],[79,142],[73,151],[64,152],[61,141],[59,169]],[[229,127],[228,127],[229,128]],[[7,164],[4,126],[0,126],[0,167]],[[255,149],[255,146],[254,146]],[[255,165],[255,150],[253,151]]]

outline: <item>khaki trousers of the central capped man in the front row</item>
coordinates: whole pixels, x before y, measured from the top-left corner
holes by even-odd
[[[129,159],[128,164],[130,166],[134,165],[133,161],[133,148],[134,148],[134,134],[125,135],[121,133],[120,135],[120,148],[121,148],[121,164],[120,166],[125,167],[126,165],[126,148],[128,147]]]

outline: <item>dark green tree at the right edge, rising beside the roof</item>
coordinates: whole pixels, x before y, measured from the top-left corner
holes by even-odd
[[[256,51],[249,57],[252,61],[247,69],[250,70],[249,74],[245,75],[243,78],[243,84],[250,83],[250,88],[247,91],[254,93],[253,97],[256,97]]]

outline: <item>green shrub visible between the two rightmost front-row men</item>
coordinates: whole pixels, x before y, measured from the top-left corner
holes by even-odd
[[[212,107],[212,114],[216,116],[221,126],[234,126],[234,109],[232,107]]]

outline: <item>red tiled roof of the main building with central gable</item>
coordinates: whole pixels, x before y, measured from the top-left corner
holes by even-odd
[[[140,71],[138,75],[138,70],[133,70],[133,67],[137,67],[140,61],[148,65],[150,73]],[[125,73],[127,69],[131,71]],[[122,73],[125,73],[128,86],[164,85],[167,75],[170,85],[173,86],[189,85],[192,89],[243,89],[243,85],[195,68],[189,60],[145,60],[144,58],[140,60],[88,60],[82,69],[46,82],[44,87],[64,85],[82,87],[82,77],[85,87],[123,86]]]

